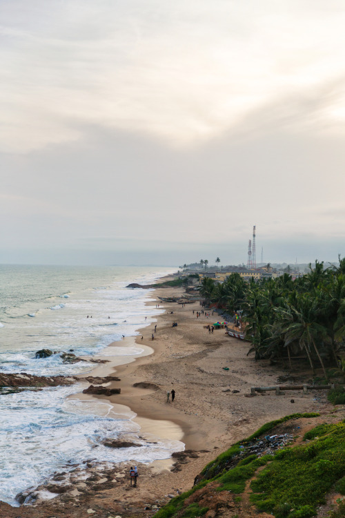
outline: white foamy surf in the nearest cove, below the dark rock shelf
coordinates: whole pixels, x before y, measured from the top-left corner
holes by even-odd
[[[68,463],[82,463],[90,457],[111,463],[152,462],[183,449],[179,441],[155,438],[152,444],[140,439],[133,412],[115,414],[108,403],[66,400],[76,390],[76,386],[46,388],[34,397],[30,391],[9,394],[6,404],[1,398],[1,419],[7,423],[0,432],[1,500],[15,505],[20,490],[39,485],[55,470],[68,470]],[[117,437],[141,446],[118,451],[102,443]]]

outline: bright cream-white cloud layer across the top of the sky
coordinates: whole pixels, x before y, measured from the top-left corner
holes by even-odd
[[[83,124],[201,144],[273,103],[291,117],[287,97],[318,115],[316,92],[344,70],[337,2],[11,0],[0,15],[0,142],[13,152],[75,141]],[[338,133],[343,102],[339,91],[324,106]]]

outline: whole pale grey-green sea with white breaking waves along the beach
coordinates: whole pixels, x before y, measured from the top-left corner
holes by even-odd
[[[152,300],[152,290],[126,285],[150,284],[172,271],[0,265],[0,373],[91,372],[95,364],[65,364],[61,352],[72,349],[76,356],[101,355],[117,341],[119,356],[139,356],[143,350],[138,345],[121,347],[122,336],[135,336],[163,309],[146,305]],[[42,348],[56,354],[36,358]],[[1,500],[16,505],[14,497],[21,490],[86,459],[150,462],[183,449],[175,440],[154,438],[148,443],[141,439],[133,412],[116,414],[106,401],[66,399],[84,387],[77,383],[0,395]],[[102,445],[104,439],[124,435],[141,447],[114,450]]]

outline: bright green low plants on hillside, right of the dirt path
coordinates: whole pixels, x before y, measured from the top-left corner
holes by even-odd
[[[252,481],[250,499],[259,510],[273,512],[276,518],[309,518],[335,483],[341,483],[345,475],[345,421],[317,426],[306,437],[317,439],[280,450]]]

